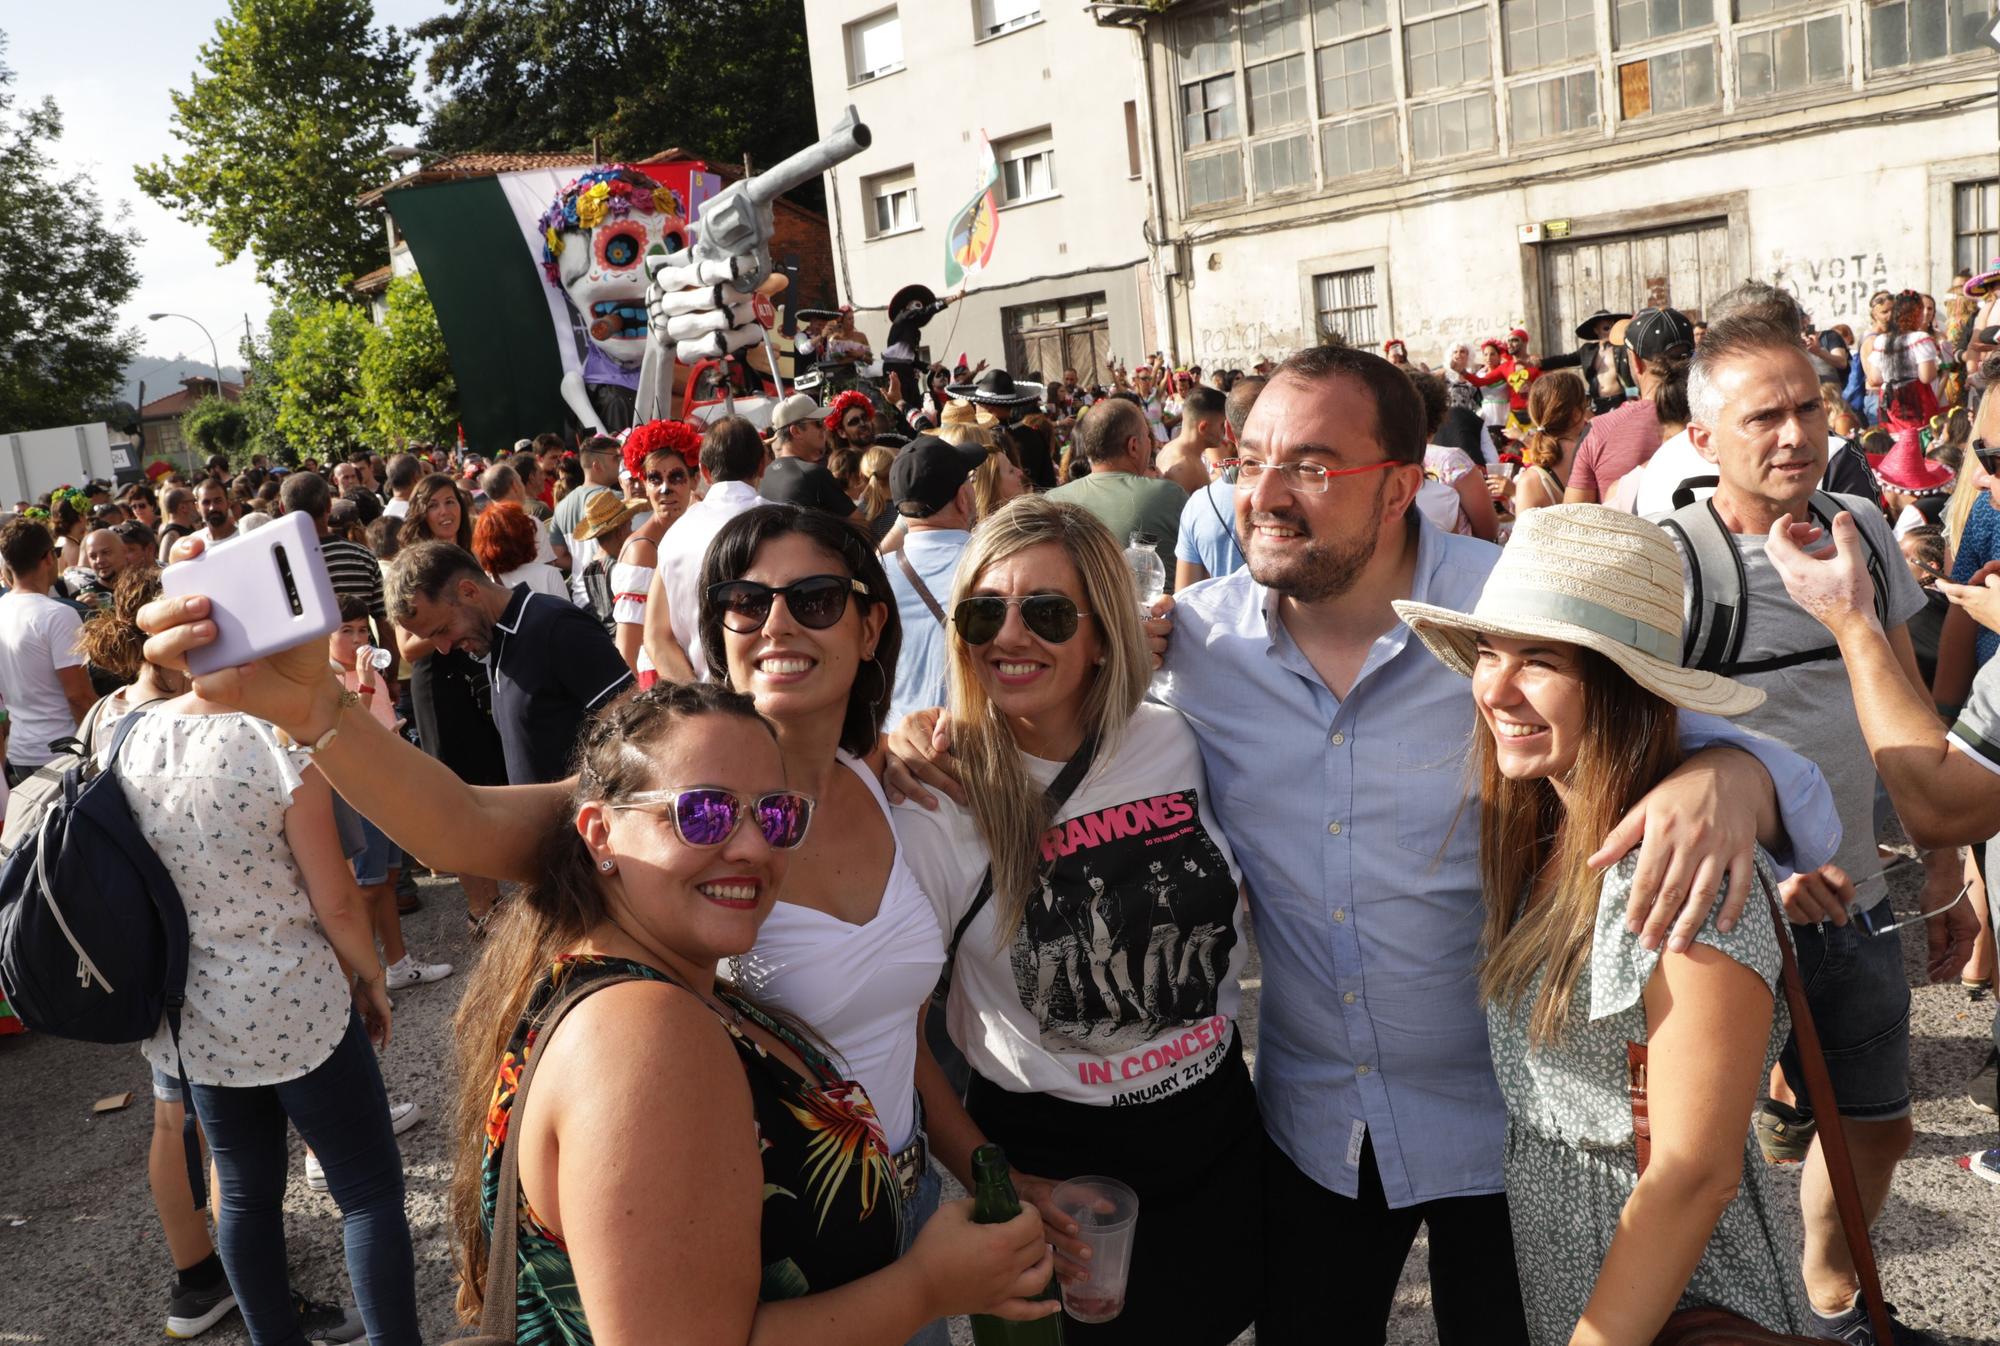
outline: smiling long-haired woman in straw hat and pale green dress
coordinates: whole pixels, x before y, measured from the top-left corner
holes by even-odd
[[[1472,678],[1478,708],[1480,996],[1530,1338],[1650,1342],[1676,1306],[1804,1332],[1796,1222],[1774,1210],[1750,1138],[1788,1028],[1768,898],[1730,930],[1710,912],[1682,950],[1648,952],[1626,928],[1634,862],[1592,864],[1680,760],[1678,712],[1742,714],[1764,692],[1680,666],[1672,542],[1596,504],[1522,516],[1472,612],[1396,614]],[[1776,884],[1762,852],[1758,876]],[[1644,1166],[1628,1044],[1648,1056]]]

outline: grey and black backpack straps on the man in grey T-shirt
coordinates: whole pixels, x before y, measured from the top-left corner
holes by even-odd
[[[1744,558],[1736,550],[1736,540],[1730,536],[1728,524],[1716,514],[1716,506],[1708,500],[1694,500],[1694,488],[1714,484],[1714,476],[1684,480],[1674,492],[1674,512],[1660,520],[1660,526],[1680,544],[1680,554],[1688,564],[1686,636],[1680,650],[1682,668],[1700,668],[1724,678],[1736,678],[1740,674],[1838,660],[1840,646],[1836,644],[1760,660],[1742,658],[1744,612],[1750,606]],[[1846,508],[1846,504],[1824,490],[1812,492],[1812,498],[1806,502],[1808,518],[1828,532],[1834,528],[1834,514]],[[1860,528],[1858,520],[1856,530],[1862,534],[1862,550],[1868,552],[1868,578],[1874,582],[1876,618],[1882,622],[1882,630],[1888,630],[1888,570],[1876,552],[1874,538],[1868,536],[1866,528]]]

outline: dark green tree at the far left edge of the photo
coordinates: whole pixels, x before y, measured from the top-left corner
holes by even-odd
[[[138,234],[106,220],[100,182],[56,170],[56,102],[16,112],[12,84],[0,64],[0,430],[38,430],[112,406],[138,348],[118,330]]]

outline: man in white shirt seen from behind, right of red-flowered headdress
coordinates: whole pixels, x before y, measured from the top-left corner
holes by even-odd
[[[702,498],[664,538],[646,586],[646,658],[666,682],[696,682],[702,662],[702,556],[722,524],[762,504],[764,440],[742,416],[724,416],[702,436]]]

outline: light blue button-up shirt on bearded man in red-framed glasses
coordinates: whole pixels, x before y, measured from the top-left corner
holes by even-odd
[[[1500,550],[1424,524],[1410,596],[1470,610]],[[1374,1140],[1390,1206],[1502,1190],[1506,1108],[1478,1004],[1474,706],[1396,624],[1336,698],[1248,570],[1178,596],[1154,694],[1194,726],[1264,958],[1264,1126],[1320,1186],[1356,1194]],[[1730,742],[1778,790],[1792,868],[1840,844],[1812,762],[1682,712],[1688,750]]]

